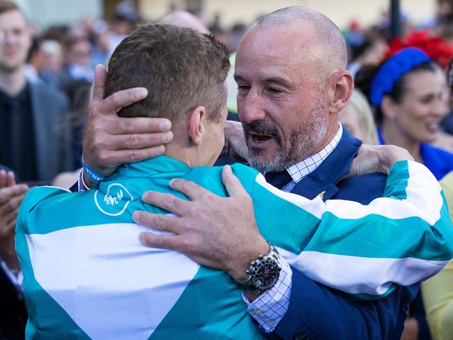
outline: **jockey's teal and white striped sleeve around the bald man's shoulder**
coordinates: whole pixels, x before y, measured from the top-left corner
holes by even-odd
[[[427,279],[453,256],[453,228],[442,191],[420,163],[395,164],[384,197],[369,205],[349,200],[324,205],[320,198],[278,191],[262,176],[256,183],[252,199],[263,236],[298,271],[355,299],[379,299],[396,284]]]

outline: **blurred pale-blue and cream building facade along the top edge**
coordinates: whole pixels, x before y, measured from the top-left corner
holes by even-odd
[[[39,27],[72,24],[81,17],[110,20],[121,0],[15,0],[30,21]],[[220,17],[224,28],[250,24],[260,15],[286,6],[307,6],[324,13],[339,27],[352,20],[366,26],[377,22],[390,8],[390,0],[130,0],[135,2],[144,20],[156,21],[171,10],[190,10],[205,22]],[[415,23],[425,22],[436,13],[436,0],[400,0],[401,11]]]

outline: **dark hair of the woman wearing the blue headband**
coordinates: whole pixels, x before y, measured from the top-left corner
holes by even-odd
[[[374,76],[378,72],[379,68],[381,68],[383,63],[381,63],[379,66],[364,65],[364,66],[362,66],[362,68],[360,68],[357,75],[355,75],[355,87],[360,89],[360,91],[362,91],[362,93],[365,96],[367,96],[367,99],[371,105],[371,108],[374,111],[374,119],[376,119],[376,122],[378,124],[381,124],[381,122],[383,121],[384,115],[383,115],[383,112],[382,112],[380,106],[377,107],[377,106],[371,104],[370,87],[371,87],[371,82],[374,79]],[[438,64],[436,64],[434,61],[431,61],[428,63],[422,63],[420,65],[415,66],[412,70],[405,73],[399,80],[397,80],[397,82],[394,82],[392,91],[390,91],[389,93],[387,93],[385,95],[390,96],[390,98],[392,98],[392,100],[395,103],[401,103],[401,101],[403,101],[403,97],[405,94],[405,84],[406,84],[406,79],[407,79],[406,76],[408,74],[420,72],[420,71],[435,72],[438,68],[440,68],[440,66],[438,66]]]

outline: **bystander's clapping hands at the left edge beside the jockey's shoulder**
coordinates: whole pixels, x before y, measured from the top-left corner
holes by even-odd
[[[15,184],[13,172],[0,171],[0,258],[8,268],[19,269],[15,253],[14,230],[17,212],[29,187]]]

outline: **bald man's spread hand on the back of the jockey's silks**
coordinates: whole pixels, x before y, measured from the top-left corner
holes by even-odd
[[[143,226],[175,234],[142,232],[140,239],[146,246],[180,251],[201,265],[222,269],[236,281],[245,281],[250,262],[268,253],[269,244],[256,228],[252,198],[228,165],[222,170],[222,182],[228,198],[194,182],[174,179],[171,188],[190,201],[156,191],[146,191],[142,200],[179,217],[137,211],[132,218]]]

